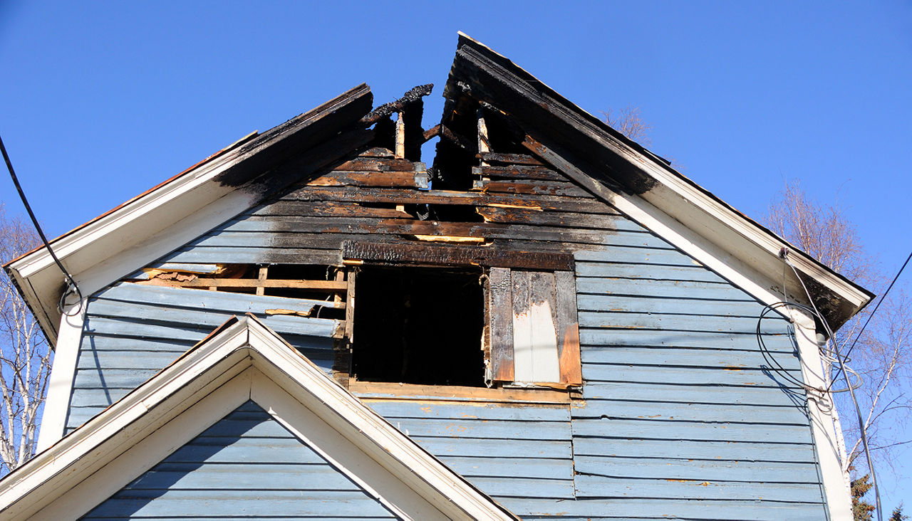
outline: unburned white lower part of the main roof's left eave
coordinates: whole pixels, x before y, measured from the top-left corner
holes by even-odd
[[[178,248],[254,204],[254,195],[214,180],[239,160],[237,149],[212,158],[51,242],[84,297]],[[233,197],[227,197],[233,195]],[[217,219],[213,219],[216,217]],[[177,231],[174,225],[180,224]],[[123,257],[123,258],[121,258]],[[42,328],[57,332],[64,276],[46,248],[9,264]],[[50,339],[56,343],[56,338]]]

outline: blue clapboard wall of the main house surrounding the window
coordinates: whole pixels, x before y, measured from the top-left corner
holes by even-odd
[[[376,215],[353,218],[344,211],[357,189],[321,189],[316,199],[335,206],[320,207],[308,189],[293,189],[161,261],[330,264],[340,260],[343,240],[368,230],[406,240],[412,224],[389,220],[393,209],[366,206]],[[395,200],[398,193],[383,197]],[[544,405],[424,397],[370,405],[527,519],[825,518],[804,393],[770,370],[758,346],[762,303],[617,209],[578,195],[517,196],[543,209],[511,223],[490,207],[494,221],[473,223],[473,233],[517,248],[575,254],[583,399]],[[472,197],[483,204],[488,196]],[[436,226],[416,225],[424,227],[420,233]],[[535,241],[528,240],[530,230]],[[282,307],[257,299],[128,282],[94,295],[68,427],[129,392],[231,314]],[[788,324],[771,317],[761,324],[765,343],[801,379]],[[327,371],[328,322],[266,320]]]

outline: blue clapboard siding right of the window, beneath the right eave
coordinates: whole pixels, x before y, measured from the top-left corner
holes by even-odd
[[[678,251],[634,251],[576,254],[585,401],[561,512],[825,518],[806,397],[771,369],[801,380],[789,323],[758,326],[761,303]]]

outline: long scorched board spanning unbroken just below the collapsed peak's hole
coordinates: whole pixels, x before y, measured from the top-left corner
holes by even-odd
[[[501,206],[511,208],[601,213],[609,208],[604,202],[588,198],[530,196],[462,192],[451,190],[366,189],[353,187],[305,187],[296,189],[284,199],[359,201],[391,204],[458,204]]]

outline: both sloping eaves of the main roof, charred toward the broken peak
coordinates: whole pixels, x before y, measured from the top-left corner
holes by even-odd
[[[427,90],[422,88],[421,95]],[[468,36],[460,36],[444,97],[448,101],[438,128],[441,136],[447,125],[473,128],[472,107],[486,107],[511,129],[526,152],[764,302],[779,301],[782,293],[805,301],[806,284],[814,304],[835,329],[873,298]],[[369,88],[356,87],[223,151],[55,240],[57,255],[83,294],[98,291],[357,150],[375,134],[391,136],[389,120],[365,116],[370,103]],[[375,123],[373,130],[366,128]],[[415,136],[422,135],[411,130],[408,148],[414,149]],[[461,143],[470,151],[472,146]],[[447,161],[450,157],[440,150],[439,146],[435,162]],[[320,187],[305,189],[318,192]],[[790,251],[789,260],[802,277],[799,281],[789,273],[784,288],[779,257],[783,249]],[[337,262],[334,255],[330,263]],[[9,263],[7,270],[53,342],[57,301],[65,285],[47,251],[36,250]]]

